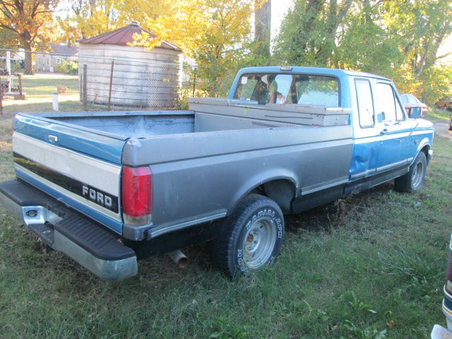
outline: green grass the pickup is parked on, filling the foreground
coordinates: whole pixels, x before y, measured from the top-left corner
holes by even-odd
[[[0,119],[0,179],[13,178],[11,119]],[[452,143],[440,136],[424,187],[393,184],[286,218],[283,250],[230,281],[206,246],[141,261],[105,283],[44,254],[0,207],[0,338],[429,338],[445,326],[442,287],[452,214]]]

